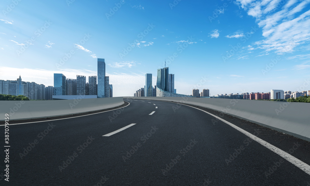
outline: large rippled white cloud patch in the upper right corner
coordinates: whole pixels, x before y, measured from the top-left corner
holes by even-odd
[[[310,0],[237,0],[262,28],[258,48],[277,54],[294,52],[310,41]]]

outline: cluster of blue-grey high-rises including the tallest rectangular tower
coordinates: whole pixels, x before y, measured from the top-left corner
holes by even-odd
[[[97,76],[77,75],[77,79],[66,79],[63,74],[54,74],[54,96],[65,95],[97,95],[97,97],[113,97],[113,85],[109,84],[109,76],[105,76],[104,59],[98,58]]]

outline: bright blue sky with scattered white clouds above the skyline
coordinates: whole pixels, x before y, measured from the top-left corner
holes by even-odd
[[[104,58],[113,97],[165,60],[180,94],[310,90],[309,41],[310,0],[2,0],[0,80],[88,82]]]

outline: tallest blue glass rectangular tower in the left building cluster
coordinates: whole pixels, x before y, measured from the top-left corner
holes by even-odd
[[[98,58],[98,88],[97,97],[104,97],[105,95],[105,63],[104,59]]]

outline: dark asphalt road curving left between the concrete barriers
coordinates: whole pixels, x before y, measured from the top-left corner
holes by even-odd
[[[310,186],[305,171],[201,110],[170,102],[125,101],[130,105],[99,114],[9,125],[10,177],[4,180],[2,146],[0,185]],[[310,165],[308,141],[200,109]],[[11,124],[23,122],[31,121]],[[4,130],[0,126],[3,141]]]

